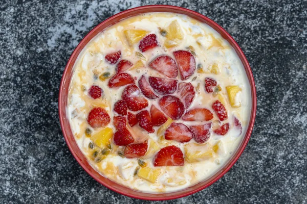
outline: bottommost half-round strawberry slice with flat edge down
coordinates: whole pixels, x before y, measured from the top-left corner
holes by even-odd
[[[154,166],[184,166],[183,153],[179,147],[166,146],[153,158]]]

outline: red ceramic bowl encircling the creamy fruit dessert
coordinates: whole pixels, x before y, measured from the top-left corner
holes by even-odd
[[[90,164],[87,162],[86,158],[83,156],[81,150],[79,149],[74,136],[71,131],[71,127],[69,124],[69,120],[67,118],[66,109],[67,106],[67,96],[68,96],[68,88],[71,81],[71,77],[73,74],[73,66],[74,63],[83,49],[83,47],[92,39],[94,38],[99,32],[107,28],[109,25],[115,24],[116,22],[120,21],[123,18],[127,18],[130,16],[148,13],[148,12],[172,12],[172,13],[179,13],[179,14],[185,14],[188,15],[196,20],[199,20],[201,22],[207,23],[215,29],[218,33],[220,33],[235,49],[237,55],[239,56],[240,60],[242,61],[247,77],[249,79],[249,83],[251,86],[251,97],[252,97],[252,108],[251,108],[251,117],[248,125],[248,130],[246,132],[246,135],[238,147],[237,151],[234,152],[232,158],[221,168],[218,172],[216,172],[214,175],[212,175],[209,179],[202,181],[194,186],[188,187],[186,189],[176,191],[176,192],[170,192],[170,193],[144,193],[140,192],[134,189],[130,189],[126,186],[122,186],[114,181],[111,181],[102,175],[100,175]],[[245,146],[247,145],[247,142],[251,136],[254,120],[256,115],[256,89],[255,89],[255,83],[252,75],[251,68],[248,64],[248,61],[243,54],[242,50],[238,46],[238,44],[234,41],[234,39],[217,23],[212,21],[211,19],[207,18],[206,16],[203,16],[202,14],[196,13],[195,11],[191,11],[185,8],[181,7],[175,7],[175,6],[166,6],[166,5],[151,5],[151,6],[143,6],[143,7],[137,7],[133,9],[129,9],[126,11],[123,11],[121,13],[118,13],[111,18],[106,19],[105,21],[101,22],[97,27],[95,27],[89,34],[87,34],[82,41],[78,44],[76,49],[74,50],[73,54],[71,55],[61,80],[60,90],[59,90],[59,117],[61,122],[61,127],[63,131],[64,138],[68,144],[69,149],[71,150],[73,156],[75,159],[79,162],[79,164],[82,166],[82,168],[89,173],[97,182],[104,185],[105,187],[118,192],[120,194],[139,198],[139,199],[146,199],[146,200],[167,200],[167,199],[176,199],[180,197],[184,197],[193,193],[196,193],[200,190],[203,190],[204,188],[210,186],[214,182],[216,182],[218,179],[220,179],[237,161],[237,159],[242,154]]]

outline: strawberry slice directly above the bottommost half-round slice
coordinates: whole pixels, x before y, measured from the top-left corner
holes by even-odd
[[[188,142],[193,138],[193,133],[188,126],[182,123],[173,122],[166,129],[164,138],[166,140],[174,140],[177,142]]]

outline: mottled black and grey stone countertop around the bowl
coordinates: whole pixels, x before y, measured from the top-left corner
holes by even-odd
[[[149,4],[202,13],[242,47],[257,88],[257,116],[243,155],[199,193],[163,203],[307,202],[307,2],[0,2],[0,202],[143,203],[98,184],[71,155],[58,118],[65,64],[104,19]]]

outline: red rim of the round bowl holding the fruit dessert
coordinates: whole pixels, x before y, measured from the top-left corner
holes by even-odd
[[[197,16],[198,18],[200,19],[203,19],[204,23],[207,23],[211,28],[213,28],[212,26],[214,25],[214,30],[217,31],[218,33],[220,33],[221,35],[223,35],[223,38],[226,39],[231,45],[232,47],[235,49],[238,57],[240,58],[240,60],[242,61],[242,64],[244,65],[244,68],[245,68],[245,71],[246,71],[246,74],[247,74],[247,77],[249,79],[249,83],[250,83],[250,88],[251,88],[251,103],[252,103],[252,106],[251,106],[251,115],[250,115],[250,121],[249,121],[249,125],[248,125],[248,129],[246,131],[246,134],[245,134],[245,137],[243,138],[240,146],[237,148],[235,154],[233,157],[231,157],[231,162],[229,162],[227,165],[225,164],[224,166],[224,169],[216,172],[215,174],[213,174],[211,177],[209,177],[208,179],[211,179],[213,176],[215,176],[210,182],[208,182],[207,184],[204,184],[200,187],[197,187],[195,189],[192,189],[188,192],[184,192],[184,193],[180,193],[181,190],[179,191],[175,191],[175,192],[170,192],[171,195],[167,195],[168,193],[146,193],[146,192],[141,192],[141,191],[137,191],[135,189],[132,189],[133,191],[137,192],[136,194],[131,194],[131,193],[126,193],[124,191],[120,191],[118,190],[117,188],[114,188],[113,185],[109,185],[109,184],[106,184],[105,182],[99,180],[97,177],[95,177],[92,173],[92,170],[94,169],[92,166],[90,166],[90,168],[92,169],[89,169],[89,165],[85,165],[83,162],[84,160],[82,161],[82,159],[79,158],[79,156],[76,154],[75,150],[73,149],[73,146],[72,146],[72,142],[75,142],[76,141],[71,141],[67,135],[67,132],[66,132],[66,129],[64,127],[64,120],[67,120],[65,119],[65,102],[64,100],[62,99],[63,97],[63,91],[64,91],[64,84],[65,84],[65,81],[66,80],[71,80],[71,78],[67,79],[67,75],[68,75],[68,72],[71,71],[73,69],[73,66],[74,66],[74,63],[75,61],[73,62],[73,58],[77,58],[78,55],[80,54],[81,50],[83,49],[83,47],[88,43],[86,42],[84,44],[84,42],[86,40],[88,40],[90,38],[93,39],[97,34],[95,34],[95,36],[93,36],[92,38],[90,37],[91,35],[93,35],[93,33],[97,32],[100,27],[102,27],[103,24],[106,24],[116,18],[118,18],[119,16],[124,16],[123,18],[121,18],[120,20],[122,19],[125,19],[125,18],[128,18],[128,17],[131,17],[131,16],[134,16],[134,12],[135,11],[142,11],[144,10],[144,12],[142,13],[150,13],[150,12],[146,12],[147,9],[157,9],[157,11],[154,11],[154,12],[168,12],[168,11],[161,11],[163,9],[169,9],[169,10],[173,10],[172,12],[173,13],[181,13],[181,14],[185,14],[185,15],[188,15],[189,17],[191,17],[190,15],[193,15],[193,16]],[[177,11],[177,12],[176,12]],[[130,15],[129,15],[130,14]],[[139,13],[141,14],[141,13]],[[136,15],[139,15],[139,14],[136,14]],[[190,14],[190,15],[189,15]],[[194,18],[194,17],[191,17],[191,18]],[[194,18],[195,19],[195,18]],[[120,21],[118,20],[118,21]],[[116,21],[116,22],[118,22]],[[211,25],[210,25],[211,24]],[[110,25],[108,25],[110,26]],[[107,27],[106,27],[107,28]],[[104,28],[105,29],[105,28]],[[103,30],[103,29],[102,29]],[[99,31],[101,32],[101,31]],[[98,32],[98,33],[99,33]],[[76,56],[77,55],[77,56]],[[75,59],[76,60],[76,59]],[[72,64],[73,62],[73,64]],[[70,84],[70,82],[69,82]],[[68,84],[68,86],[69,86]],[[67,98],[64,98],[65,100],[67,100]],[[257,102],[256,102],[256,87],[255,87],[255,81],[254,81],[254,78],[253,78],[253,74],[252,74],[252,71],[251,71],[251,68],[250,68],[250,65],[247,61],[247,58],[246,56],[244,55],[242,49],[239,47],[239,45],[236,43],[236,41],[230,36],[230,34],[228,32],[226,32],[220,25],[218,25],[216,22],[214,22],[213,20],[211,20],[210,18],[198,13],[198,12],[195,12],[195,11],[192,11],[192,10],[189,10],[189,9],[186,9],[186,8],[182,8],[182,7],[177,7],[177,6],[170,6],[170,5],[147,5],[147,6],[140,6],[140,7],[135,7],[135,8],[132,8],[132,9],[128,9],[128,10],[125,10],[125,11],[122,11],[120,13],[117,13],[107,19],[105,19],[104,21],[100,22],[94,29],[92,29],[89,33],[87,33],[85,35],[85,37],[79,42],[79,44],[77,45],[77,47],[74,49],[73,53],[71,54],[69,60],[68,60],[68,63],[67,65],[65,66],[65,69],[63,71],[63,75],[62,75],[62,78],[61,78],[61,83],[60,83],[60,87],[59,87],[59,99],[58,99],[58,112],[59,112],[59,119],[60,119],[60,124],[61,124],[61,129],[62,129],[62,133],[63,133],[63,136],[64,136],[64,139],[73,155],[73,157],[77,160],[77,162],[80,164],[80,166],[89,174],[91,175],[98,183],[102,184],[103,186],[107,187],[108,189],[111,189],[117,193],[120,193],[122,195],[125,195],[125,196],[129,196],[129,197],[133,197],[133,198],[138,198],[138,199],[143,199],[143,200],[170,200],[170,199],[177,199],[177,198],[181,198],[181,197],[184,197],[184,196],[188,196],[188,195],[191,195],[193,193],[196,193],[196,192],[199,192],[207,187],[209,187],[210,185],[212,185],[214,182],[216,182],[217,180],[219,180],[226,172],[228,172],[230,170],[230,168],[235,164],[235,162],[238,160],[238,158],[242,155],[250,137],[251,137],[251,133],[252,133],[252,130],[253,130],[253,126],[254,126],[254,122],[255,122],[255,116],[256,116],[256,105],[257,105]],[[79,149],[80,150],[80,149]],[[85,161],[87,162],[87,161]],[[94,169],[94,171],[96,171]],[[116,183],[115,181],[112,181],[112,180],[109,180],[113,183]],[[206,181],[206,180],[204,180]],[[196,183],[195,185],[193,186],[196,186],[204,181],[201,181],[199,183]],[[117,183],[119,184],[119,183]],[[123,188],[128,188],[128,187],[125,187],[123,186],[122,184],[119,184],[120,186],[122,186]],[[191,187],[193,187],[191,186]],[[189,188],[189,187],[188,187]],[[129,188],[130,189],[130,188]],[[131,189],[130,189],[131,190]],[[184,190],[184,189],[183,189]],[[178,192],[176,194],[176,192]],[[146,195],[142,195],[142,194],[152,194],[152,195],[164,195],[164,196],[153,196],[153,197],[149,197],[149,196],[146,196]],[[173,195],[174,194],[174,195]]]

